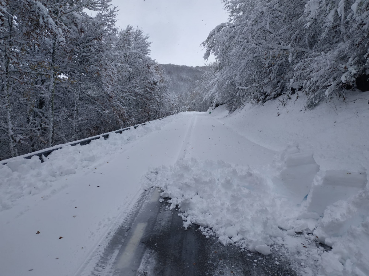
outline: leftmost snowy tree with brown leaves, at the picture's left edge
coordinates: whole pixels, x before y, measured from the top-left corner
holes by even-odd
[[[39,1],[0,2],[0,134],[7,133],[10,156],[17,155],[28,124],[25,110],[29,108],[24,103],[32,101],[30,68],[38,66],[30,64],[34,61],[31,46],[38,47],[42,32],[50,33],[52,28],[48,10]]]

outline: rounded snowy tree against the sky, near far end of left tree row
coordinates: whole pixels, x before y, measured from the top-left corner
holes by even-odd
[[[159,118],[168,80],[161,67],[149,57],[148,36],[142,29],[127,26],[114,47],[116,105],[124,106],[124,121],[133,124]],[[161,115],[160,115],[161,114]]]

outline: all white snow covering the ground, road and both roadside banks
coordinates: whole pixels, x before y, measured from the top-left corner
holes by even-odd
[[[369,106],[355,100],[368,97],[184,112],[44,163],[7,160],[0,274],[90,275],[109,233],[157,186],[204,238],[279,254],[298,275],[369,275]]]

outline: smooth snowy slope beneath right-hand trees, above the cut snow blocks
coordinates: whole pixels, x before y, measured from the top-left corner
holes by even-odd
[[[306,110],[306,99],[299,95],[287,105],[279,99],[246,104],[228,115],[220,106],[211,116],[265,148],[282,152],[298,144],[302,152],[314,153],[322,170],[368,169],[369,92],[346,92],[346,102],[331,99],[313,110]]]

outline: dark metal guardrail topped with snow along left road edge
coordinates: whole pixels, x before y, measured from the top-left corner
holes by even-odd
[[[152,123],[152,122],[155,122],[155,121],[160,121],[160,120],[163,120],[164,118],[167,118],[167,117],[169,117],[169,116],[159,118],[159,119],[156,119],[156,120],[152,120],[152,121],[148,121],[148,122],[145,122],[145,123],[142,123],[142,124],[133,125],[132,127],[121,128],[120,130],[115,130],[115,131],[107,132],[107,133],[104,133],[104,134],[99,134],[99,135],[96,135],[96,136],[93,136],[93,137],[89,137],[89,138],[85,138],[85,139],[81,139],[81,140],[77,140],[77,141],[73,141],[73,142],[68,142],[66,144],[55,145],[55,146],[52,146],[51,148],[41,149],[40,151],[26,153],[24,155],[20,155],[20,156],[16,156],[16,157],[13,157],[13,158],[2,160],[2,161],[0,161],[0,164],[5,165],[6,163],[8,163],[11,160],[19,159],[19,158],[22,158],[22,157],[25,158],[25,159],[31,159],[33,156],[38,156],[40,158],[41,162],[45,162],[45,159],[44,159],[45,157],[47,157],[53,151],[56,151],[58,149],[62,149],[65,146],[75,146],[75,145],[83,146],[83,145],[87,145],[87,144],[90,144],[90,142],[93,141],[93,140],[100,139],[100,137],[103,137],[104,139],[107,139],[109,137],[109,135],[112,134],[112,133],[122,133],[125,130],[130,130],[131,128],[137,128],[140,125],[149,124],[149,123]]]

